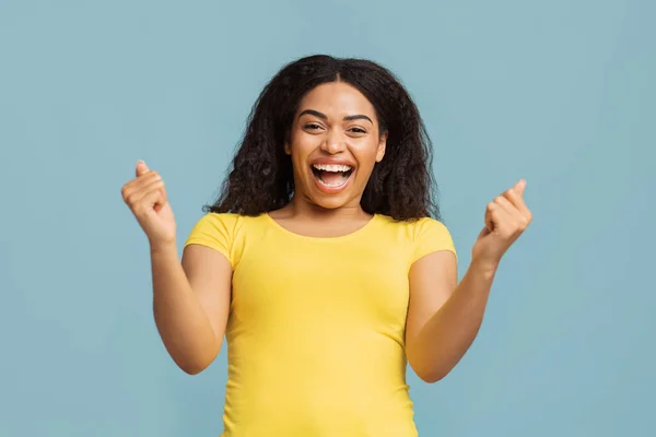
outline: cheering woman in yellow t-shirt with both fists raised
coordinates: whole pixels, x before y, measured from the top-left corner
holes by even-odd
[[[415,105],[373,62],[313,56],[260,94],[181,262],[160,175],[138,163],[122,196],[150,241],[173,359],[198,374],[226,336],[224,436],[406,437],[406,365],[434,382],[465,354],[531,220],[524,188],[488,204],[457,284]]]

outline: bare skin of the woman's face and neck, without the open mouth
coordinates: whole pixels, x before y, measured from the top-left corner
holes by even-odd
[[[362,227],[372,216],[362,210],[360,200],[375,163],[385,156],[386,141],[374,107],[356,88],[342,82],[317,86],[298,105],[284,144],[298,196],[269,215],[294,233],[315,237]],[[311,163],[319,157],[354,164],[347,189],[327,196],[316,187]]]

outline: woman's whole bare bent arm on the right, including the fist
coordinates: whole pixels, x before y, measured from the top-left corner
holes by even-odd
[[[471,264],[456,286],[456,257],[436,251],[410,268],[406,351],[420,378],[444,378],[465,355],[481,326],[501,258],[531,222],[524,203],[526,181],[488,204],[485,227],[472,249]]]

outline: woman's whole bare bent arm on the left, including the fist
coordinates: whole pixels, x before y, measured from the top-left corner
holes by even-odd
[[[232,267],[219,251],[197,245],[185,248],[180,263],[164,181],[142,161],[134,170],[121,196],[150,243],[155,324],[175,363],[188,374],[198,374],[221,349]]]

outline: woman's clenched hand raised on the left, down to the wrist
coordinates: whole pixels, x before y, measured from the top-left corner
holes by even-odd
[[[175,244],[175,218],[162,177],[142,161],[137,163],[136,173],[137,177],[121,189],[124,201],[137,217],[151,248]]]

